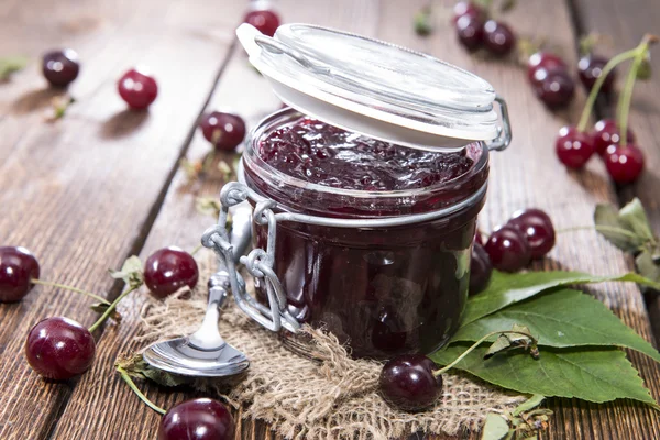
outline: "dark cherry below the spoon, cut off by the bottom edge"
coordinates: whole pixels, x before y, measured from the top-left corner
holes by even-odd
[[[233,440],[229,409],[210,398],[196,398],[169,409],[161,419],[158,440]]]

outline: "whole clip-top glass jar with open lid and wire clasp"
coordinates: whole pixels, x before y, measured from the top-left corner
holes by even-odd
[[[237,304],[262,326],[284,328],[297,350],[305,350],[297,332],[305,323],[334,333],[355,358],[439,349],[465,307],[488,153],[510,141],[504,100],[458,67],[340,31],[290,24],[271,38],[243,24],[238,34],[252,64],[293,108],[251,132],[239,182],[223,187],[219,224],[202,239],[228,266]],[[459,154],[471,165],[421,188],[315,183],[273,166],[260,150],[273,132],[305,116],[328,130],[396,148]],[[254,250],[240,261],[255,278],[256,298],[235,271],[226,228],[229,207],[245,200],[254,208]]]

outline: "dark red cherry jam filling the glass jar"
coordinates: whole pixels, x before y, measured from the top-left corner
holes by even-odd
[[[438,213],[396,227],[279,221],[274,268],[300,322],[327,328],[355,358],[374,359],[429,353],[457,331],[488,175],[483,143],[417,151],[286,109],[251,134],[243,169],[244,183],[279,211],[339,223]],[[255,226],[253,244],[266,242],[267,229]],[[265,298],[258,279],[256,289]]]

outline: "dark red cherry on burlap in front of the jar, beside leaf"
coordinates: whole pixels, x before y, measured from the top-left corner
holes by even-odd
[[[381,395],[391,406],[405,411],[428,408],[442,393],[442,377],[433,375],[436,370],[436,363],[424,354],[393,358],[381,371]]]

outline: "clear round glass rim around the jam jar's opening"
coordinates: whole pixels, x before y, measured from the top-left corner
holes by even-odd
[[[262,140],[266,133],[274,129],[278,129],[282,125],[277,125],[278,121],[287,119],[286,122],[295,122],[299,118],[304,118],[306,114],[293,109],[293,108],[284,108],[275,111],[274,113],[268,114],[264,119],[262,119],[248,134],[245,142],[245,151],[243,152],[243,162],[249,168],[254,169],[255,172],[260,172],[260,176],[264,177],[264,173],[266,176],[271,178],[275,178],[280,182],[283,185],[293,186],[295,188],[319,191],[330,195],[344,196],[358,199],[370,199],[370,198],[415,198],[417,196],[426,195],[429,191],[438,191],[443,188],[455,186],[461,182],[469,180],[474,175],[479,174],[488,163],[488,148],[486,147],[485,142],[483,141],[473,141],[465,144],[465,147],[470,145],[480,146],[480,155],[479,158],[474,162],[474,164],[470,167],[470,169],[460,176],[457,176],[450,180],[446,180],[436,185],[430,185],[421,188],[410,188],[410,189],[396,189],[396,190],[362,190],[362,189],[346,189],[346,188],[337,188],[328,185],[315,184],[311,182],[307,182],[300,179],[298,177],[290,176],[277,168],[273,165],[265,162],[257,153],[258,141]],[[404,146],[405,147],[405,146]],[[440,153],[440,152],[439,152]],[[442,154],[442,153],[440,153]]]

